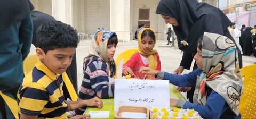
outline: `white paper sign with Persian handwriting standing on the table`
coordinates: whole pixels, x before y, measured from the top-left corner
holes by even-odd
[[[115,79],[115,104],[118,106],[170,107],[168,80]]]

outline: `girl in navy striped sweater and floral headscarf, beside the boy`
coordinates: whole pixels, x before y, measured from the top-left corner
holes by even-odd
[[[113,59],[118,43],[115,32],[97,32],[89,47],[89,55],[84,58],[84,78],[78,93],[78,100],[114,97],[116,64]],[[76,109],[83,114],[86,107]]]

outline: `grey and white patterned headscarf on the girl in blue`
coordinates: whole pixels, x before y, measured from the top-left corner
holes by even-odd
[[[220,94],[238,115],[244,84],[239,72],[236,45],[225,36],[204,32],[202,58],[203,72],[196,84],[194,102],[205,105],[206,84]]]

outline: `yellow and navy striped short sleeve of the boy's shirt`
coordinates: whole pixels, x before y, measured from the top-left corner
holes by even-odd
[[[49,100],[49,94],[45,88],[35,82],[23,86],[19,95],[21,113],[31,116],[39,115]]]

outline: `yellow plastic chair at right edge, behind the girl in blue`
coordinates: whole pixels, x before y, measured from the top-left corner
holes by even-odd
[[[240,72],[244,77],[244,93],[241,96],[239,112],[241,118],[256,118],[256,64],[243,67]]]

